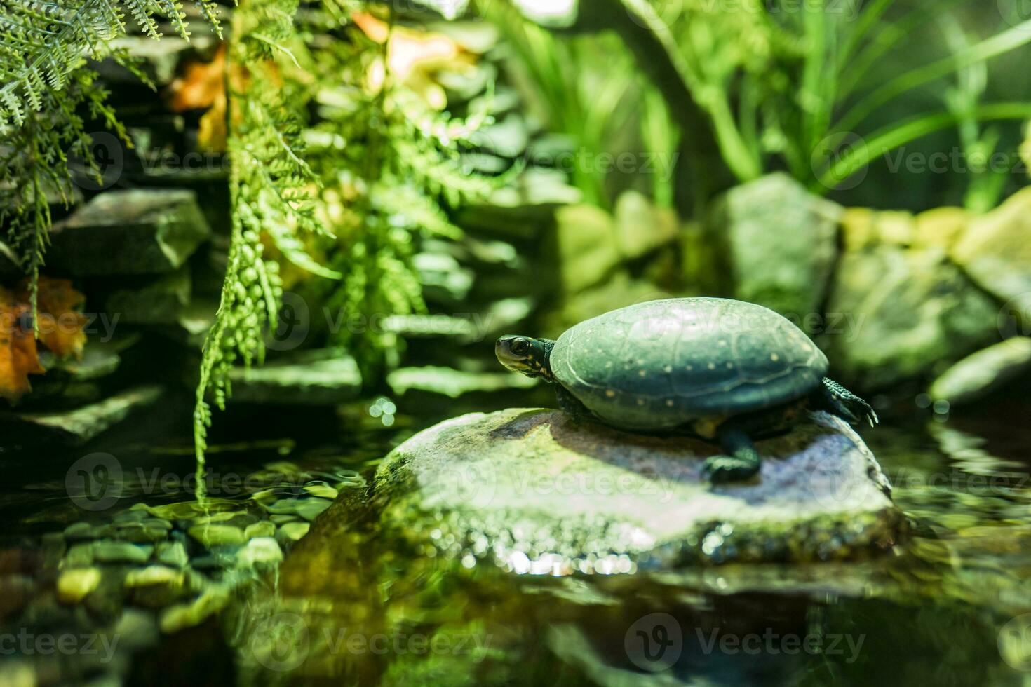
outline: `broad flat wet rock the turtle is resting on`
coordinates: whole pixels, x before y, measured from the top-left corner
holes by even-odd
[[[758,446],[758,480],[714,487],[701,468],[719,449],[700,440],[558,411],[473,413],[401,444],[375,490],[413,546],[517,573],[849,558],[900,536],[887,479],[843,421],[813,413]]]

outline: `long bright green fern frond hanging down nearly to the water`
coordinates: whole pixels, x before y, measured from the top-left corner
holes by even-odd
[[[238,360],[245,367],[261,363],[266,328],[275,325],[282,291],[279,266],[264,257],[262,237],[302,267],[320,271],[296,238],[305,231],[325,234],[314,219],[310,194],[318,179],[302,158],[303,93],[296,92],[289,65],[282,64],[295,62],[289,45],[296,40],[296,0],[246,0],[233,14],[226,67],[233,224],[221,303],[204,342],[197,385],[198,469],[204,465],[211,424],[208,396],[225,409],[230,370]],[[269,88],[277,81],[278,88]]]

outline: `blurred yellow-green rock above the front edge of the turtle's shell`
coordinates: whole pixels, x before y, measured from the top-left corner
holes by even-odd
[[[578,294],[601,282],[620,264],[620,241],[610,214],[594,205],[572,205],[556,213],[562,289]]]

